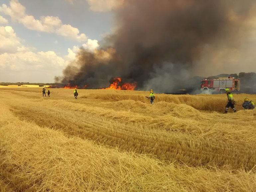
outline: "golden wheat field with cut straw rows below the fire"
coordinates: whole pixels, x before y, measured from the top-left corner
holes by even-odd
[[[78,92],[0,88],[1,191],[256,191],[256,95]]]

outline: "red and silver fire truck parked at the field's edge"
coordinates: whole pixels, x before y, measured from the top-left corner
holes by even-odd
[[[234,77],[218,77],[217,79],[203,79],[201,80],[201,91],[225,93],[225,89],[229,88],[231,91],[240,90],[240,79]]]

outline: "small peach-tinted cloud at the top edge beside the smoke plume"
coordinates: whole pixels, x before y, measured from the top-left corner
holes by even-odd
[[[87,0],[92,11],[106,12],[123,5],[124,0]]]

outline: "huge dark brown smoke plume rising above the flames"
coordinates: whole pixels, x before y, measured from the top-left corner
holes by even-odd
[[[240,72],[216,52],[229,58],[247,45],[255,6],[254,0],[124,1],[115,11],[115,32],[98,50],[81,49],[62,82],[103,88],[120,77],[122,83],[136,83],[137,90],[164,92],[186,85],[194,74]]]

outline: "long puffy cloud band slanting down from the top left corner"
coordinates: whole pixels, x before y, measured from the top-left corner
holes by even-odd
[[[26,8],[20,4],[18,0],[11,0],[10,6],[2,4],[0,12],[9,15],[12,20],[22,23],[30,30],[55,33],[78,42],[84,42],[87,40],[87,36],[85,34],[80,34],[79,30],[71,25],[64,25],[59,17],[42,16],[38,20],[32,15],[27,15]]]

